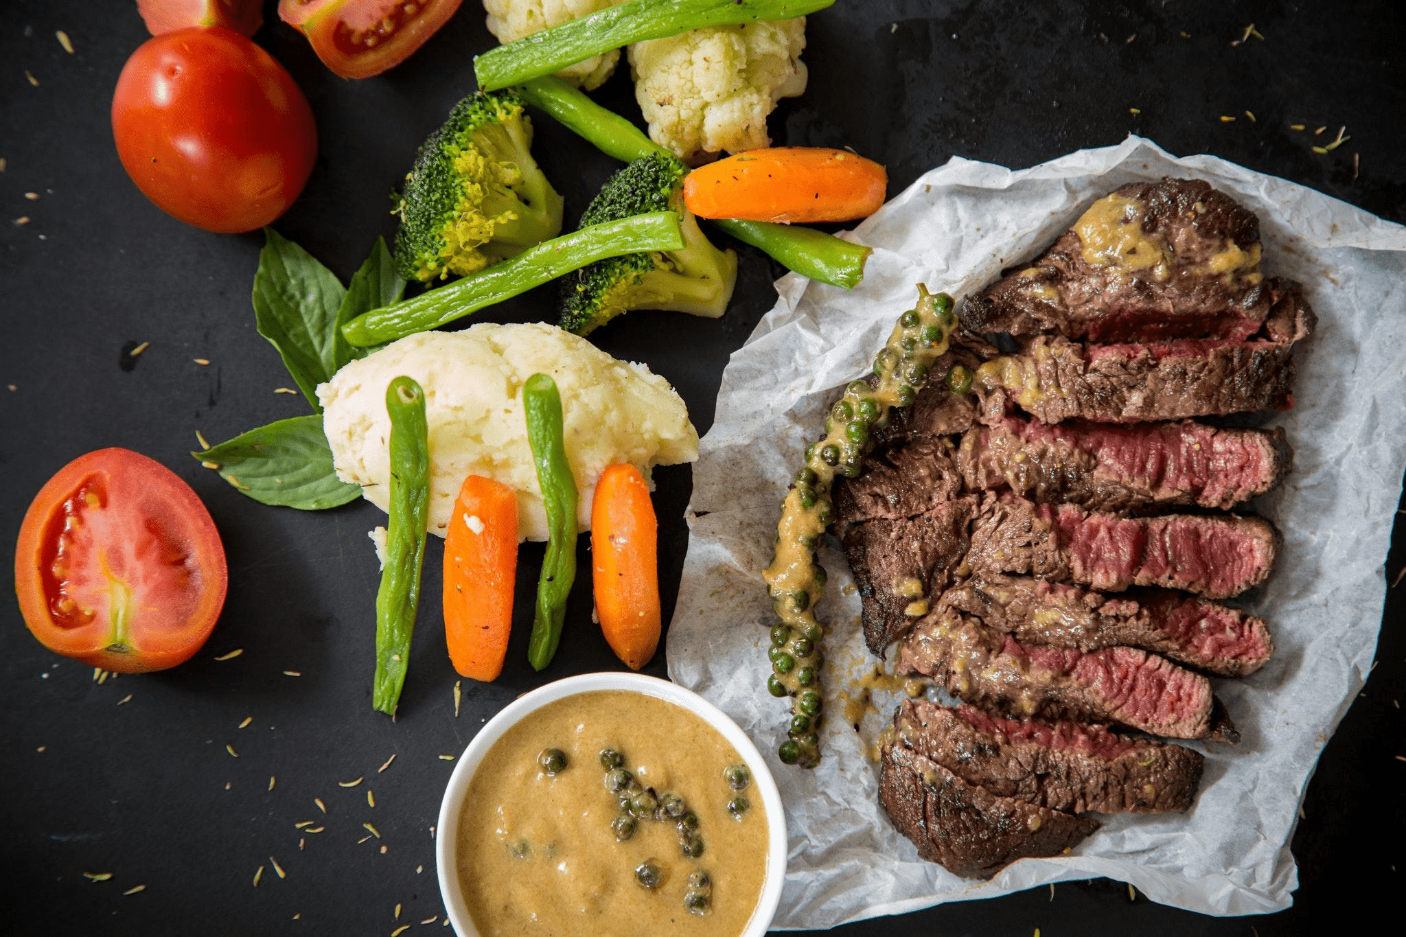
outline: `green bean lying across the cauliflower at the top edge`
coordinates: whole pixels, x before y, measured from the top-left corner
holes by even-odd
[[[835,0],[630,0],[571,20],[474,58],[484,91],[561,72],[636,42],[665,39],[702,27],[793,20]]]

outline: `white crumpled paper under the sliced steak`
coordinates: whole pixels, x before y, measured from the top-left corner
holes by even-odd
[[[1294,472],[1253,510],[1284,534],[1278,563],[1250,608],[1275,642],[1244,680],[1216,679],[1243,732],[1206,754],[1187,815],[1101,816],[1071,856],[1022,860],[990,882],[918,858],[877,802],[866,749],[893,712],[875,694],[856,733],[837,694],[872,673],[859,597],[842,553],[823,552],[827,639],[823,761],[811,771],[775,756],[789,707],[765,690],[773,620],[761,570],[779,503],[824,407],[866,372],[915,284],[962,296],[1025,261],[1097,197],[1132,180],[1195,177],[1260,216],[1263,268],[1299,280],[1319,315],[1298,346],[1292,410],[1275,414]],[[1323,750],[1372,663],[1385,594],[1384,561],[1406,464],[1406,228],[1279,178],[1211,156],[1175,159],[1130,136],[1028,170],[952,159],[853,233],[872,244],[853,291],[780,280],[780,299],[723,374],[717,423],[693,468],[692,535],[669,627],[669,676],[727,711],[769,753],[786,802],[790,861],[778,927],[834,924],[1104,875],[1156,902],[1211,915],[1272,912],[1298,884],[1289,837]],[[890,655],[891,657],[893,655]],[[891,669],[891,662],[887,664]]]

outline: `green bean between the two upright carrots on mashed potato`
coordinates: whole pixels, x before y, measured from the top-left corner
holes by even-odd
[[[576,480],[567,464],[561,428],[561,393],[546,374],[523,384],[527,443],[537,465],[541,503],[547,510],[547,556],[537,580],[537,611],[527,639],[527,662],[541,670],[551,663],[567,617],[567,596],[576,579]]]

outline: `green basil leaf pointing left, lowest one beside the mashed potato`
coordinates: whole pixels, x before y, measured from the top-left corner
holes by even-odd
[[[249,430],[191,455],[263,504],[318,511],[361,494],[360,485],[339,480],[332,469],[332,447],[316,413]]]

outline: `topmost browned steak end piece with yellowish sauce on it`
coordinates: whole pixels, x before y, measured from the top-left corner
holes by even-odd
[[[1095,201],[1045,253],[969,299],[962,323],[1090,341],[1243,341],[1271,305],[1254,214],[1208,183],[1163,178]]]

